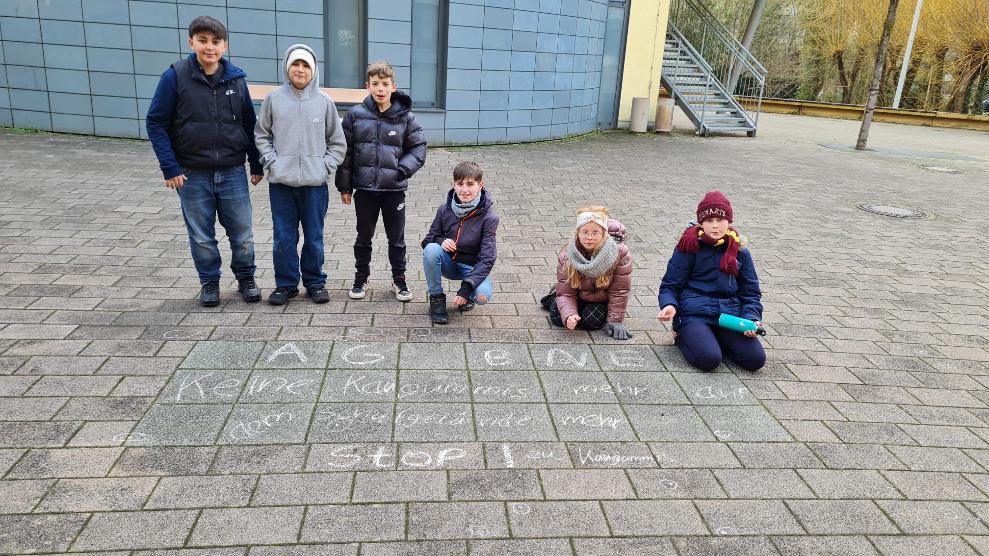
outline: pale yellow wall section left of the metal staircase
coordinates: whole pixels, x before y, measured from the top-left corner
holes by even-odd
[[[631,0],[625,66],[622,70],[618,126],[627,128],[632,99],[649,99],[649,121],[656,120],[656,98],[660,90],[663,46],[666,45],[670,0]]]

